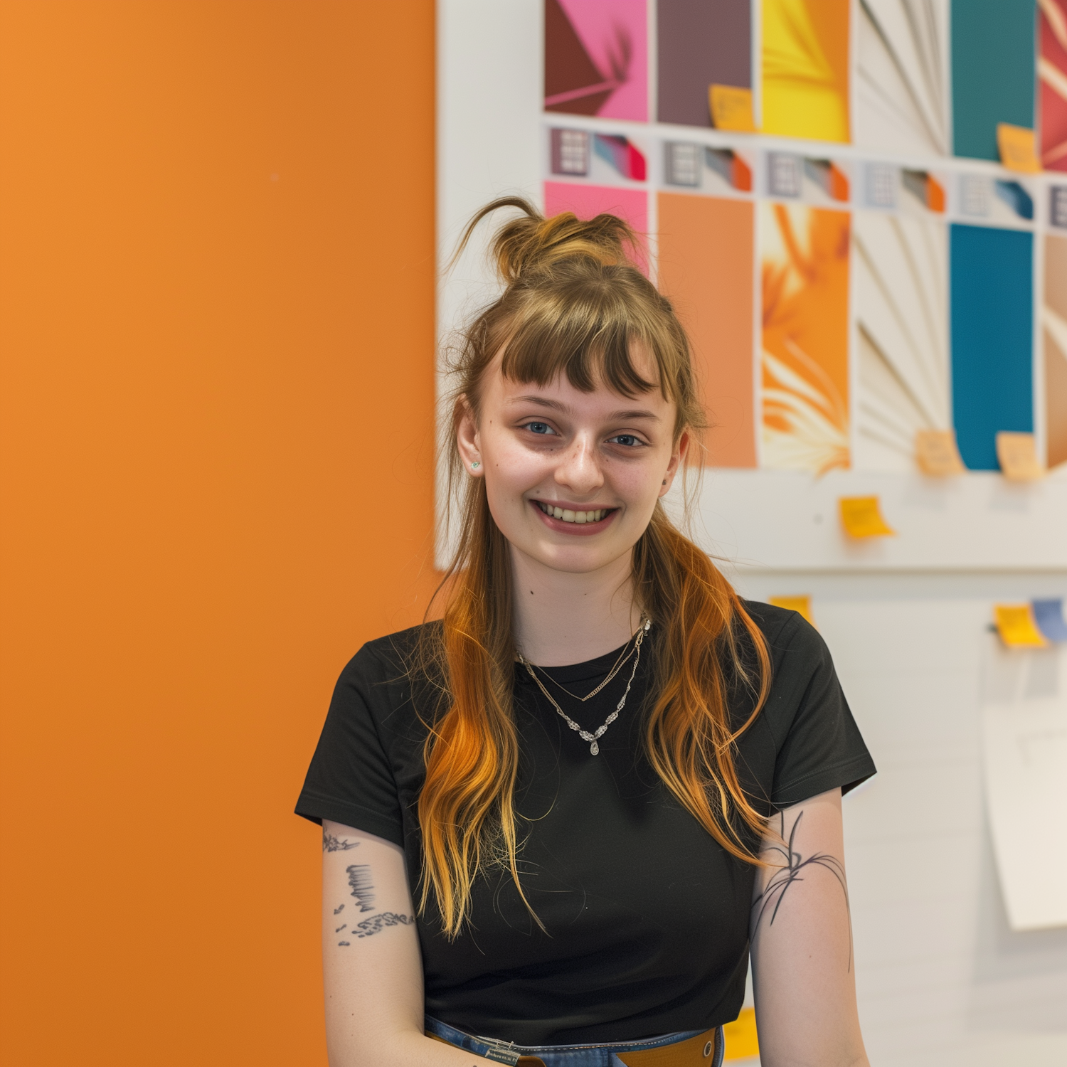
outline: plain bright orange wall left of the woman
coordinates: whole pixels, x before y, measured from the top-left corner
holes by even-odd
[[[432,2],[6,0],[0,146],[0,1057],[324,1064],[290,812],[432,582]]]

